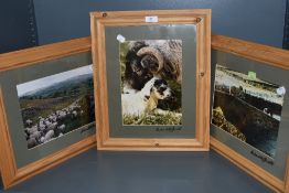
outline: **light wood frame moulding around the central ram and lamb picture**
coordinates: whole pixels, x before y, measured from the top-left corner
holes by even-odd
[[[157,15],[148,23],[144,17]],[[92,51],[95,74],[97,148],[99,150],[207,151],[210,147],[210,78],[211,78],[211,10],[153,10],[92,12]],[[113,138],[109,136],[108,96],[106,83],[105,26],[196,24],[196,135],[194,139]],[[97,69],[97,71],[96,71]],[[193,76],[193,75],[192,75]]]

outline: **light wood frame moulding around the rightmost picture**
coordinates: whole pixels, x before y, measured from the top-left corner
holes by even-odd
[[[281,49],[276,49],[223,35],[212,35],[212,50],[231,53],[244,58],[266,63],[287,71],[289,69],[289,51],[285,51]],[[246,171],[248,174],[250,174],[275,192],[289,192],[289,161],[287,161],[287,176],[283,181],[281,181],[212,136],[210,143],[213,150],[224,156],[226,159],[232,161],[234,164]]]

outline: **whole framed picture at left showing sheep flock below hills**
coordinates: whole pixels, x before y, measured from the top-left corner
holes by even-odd
[[[90,39],[0,55],[4,189],[95,146]]]

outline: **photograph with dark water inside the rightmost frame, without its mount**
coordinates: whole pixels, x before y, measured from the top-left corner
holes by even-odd
[[[274,158],[286,89],[216,65],[212,124]]]

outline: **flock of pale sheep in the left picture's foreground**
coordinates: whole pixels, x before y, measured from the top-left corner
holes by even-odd
[[[28,148],[31,149],[41,143],[51,141],[56,137],[63,136],[66,131],[65,119],[74,119],[81,117],[84,111],[78,105],[78,100],[61,110],[50,114],[46,118],[39,117],[36,122],[25,120],[24,129]]]

